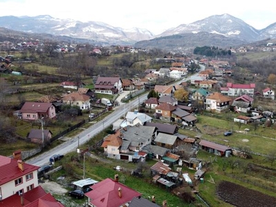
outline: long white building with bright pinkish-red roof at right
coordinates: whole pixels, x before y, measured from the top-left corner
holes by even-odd
[[[227,83],[226,87],[221,88],[221,94],[228,95],[230,97],[238,97],[241,95],[249,95],[253,97],[255,90],[255,83],[250,84],[235,84]]]

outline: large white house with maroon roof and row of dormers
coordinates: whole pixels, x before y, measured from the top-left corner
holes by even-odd
[[[97,77],[95,92],[114,95],[123,91],[122,81],[119,77]]]

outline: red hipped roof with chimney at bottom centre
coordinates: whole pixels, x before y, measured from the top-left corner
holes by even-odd
[[[107,178],[91,186],[92,190],[85,195],[89,197],[90,203],[98,207],[117,207],[128,203],[134,197],[141,196],[141,193]],[[118,189],[121,188],[121,197]]]

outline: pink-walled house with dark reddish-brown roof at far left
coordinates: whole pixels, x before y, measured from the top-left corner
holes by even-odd
[[[53,119],[56,117],[56,110],[52,103],[25,102],[17,116],[23,120],[30,121],[41,119],[42,117]]]

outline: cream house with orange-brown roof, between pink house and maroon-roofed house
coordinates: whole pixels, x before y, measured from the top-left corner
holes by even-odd
[[[70,106],[79,106],[81,110],[89,110],[91,108],[90,96],[79,92],[71,92],[64,96],[62,101]]]

